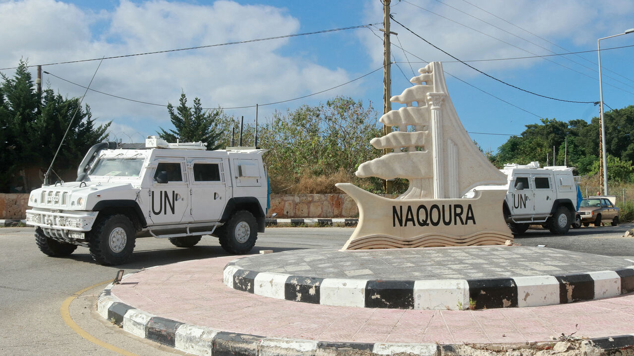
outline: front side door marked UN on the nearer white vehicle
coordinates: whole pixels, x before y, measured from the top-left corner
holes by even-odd
[[[179,224],[189,220],[189,197],[184,158],[157,158],[150,186],[150,219],[153,224]],[[154,164],[153,164],[154,165]]]

